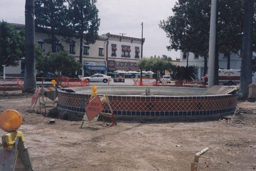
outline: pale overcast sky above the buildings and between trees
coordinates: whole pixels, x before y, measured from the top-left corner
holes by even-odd
[[[25,24],[25,1],[0,1],[0,19]],[[143,57],[167,55],[173,60],[180,52],[167,51],[169,39],[159,28],[160,20],[173,15],[172,8],[177,0],[98,0],[96,7],[100,18],[99,35],[110,33],[141,38],[143,22]]]

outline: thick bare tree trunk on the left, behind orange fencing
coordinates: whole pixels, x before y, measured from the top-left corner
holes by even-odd
[[[35,1],[26,0],[25,5],[25,78],[23,92],[34,93],[35,79]]]

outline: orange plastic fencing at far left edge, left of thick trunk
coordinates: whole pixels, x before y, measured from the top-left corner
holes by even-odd
[[[18,78],[0,78],[0,91],[22,90],[24,81]]]

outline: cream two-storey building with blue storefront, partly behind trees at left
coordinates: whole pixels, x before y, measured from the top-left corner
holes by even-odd
[[[16,30],[25,30],[25,25],[19,25],[11,23]],[[44,53],[52,52],[52,46],[46,43],[44,40],[49,38],[47,33],[35,32],[35,42]],[[59,42],[54,45],[54,52],[61,49],[68,51],[69,55],[74,56],[79,61],[80,45],[79,39],[73,38],[75,43],[69,44],[63,40],[62,36],[56,35]],[[99,36],[94,44],[82,45],[82,75],[90,76],[93,74],[106,74],[108,68],[106,68],[106,41],[108,37]],[[18,62],[17,66],[6,67],[6,76],[23,76],[25,68],[25,60],[22,59]]]

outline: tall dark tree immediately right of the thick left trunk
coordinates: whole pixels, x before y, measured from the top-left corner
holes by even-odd
[[[65,0],[35,0],[36,29],[38,32],[49,34],[49,38],[45,39],[45,42],[51,44],[52,52],[57,51],[55,50],[56,44],[59,45],[60,50],[63,49],[56,35],[66,35],[66,32],[69,33],[67,29],[69,23],[67,7],[64,3]]]

